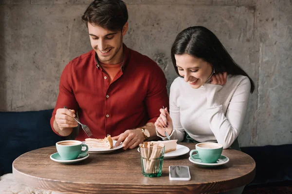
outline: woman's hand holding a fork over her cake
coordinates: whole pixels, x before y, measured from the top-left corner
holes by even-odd
[[[161,136],[165,137],[164,134],[164,127],[166,132],[170,135],[173,130],[172,119],[167,112],[167,107],[165,109],[160,109],[160,115],[157,118],[156,122],[154,123],[156,130],[161,134]],[[165,122],[166,116],[166,122]]]

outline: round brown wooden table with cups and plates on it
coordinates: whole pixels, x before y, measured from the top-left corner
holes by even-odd
[[[182,145],[195,149],[195,144]],[[60,164],[50,159],[55,146],[22,154],[13,162],[13,175],[28,186],[60,193],[218,193],[250,183],[256,162],[249,155],[232,149],[222,154],[230,161],[216,168],[203,168],[188,160],[189,155],[164,159],[159,178],[142,175],[137,148],[106,154],[90,154],[75,164]],[[187,165],[190,181],[170,181],[168,166]]]

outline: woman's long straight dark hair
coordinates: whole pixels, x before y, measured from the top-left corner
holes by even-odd
[[[243,75],[251,81],[251,93],[255,90],[254,81],[231,58],[216,35],[202,26],[189,27],[180,32],[172,47],[171,59],[175,71],[180,76],[174,55],[189,54],[201,58],[213,66],[216,73],[227,72],[231,75]],[[181,76],[180,76],[181,77]]]

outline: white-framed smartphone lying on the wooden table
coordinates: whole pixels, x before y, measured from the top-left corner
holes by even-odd
[[[169,166],[169,180],[190,180],[191,174],[188,166]]]

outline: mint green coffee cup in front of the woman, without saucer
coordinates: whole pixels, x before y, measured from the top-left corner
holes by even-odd
[[[190,151],[192,159],[200,159],[204,163],[215,163],[220,158],[223,146],[218,143],[199,143],[196,144],[196,149]],[[193,155],[194,152],[197,154]]]

